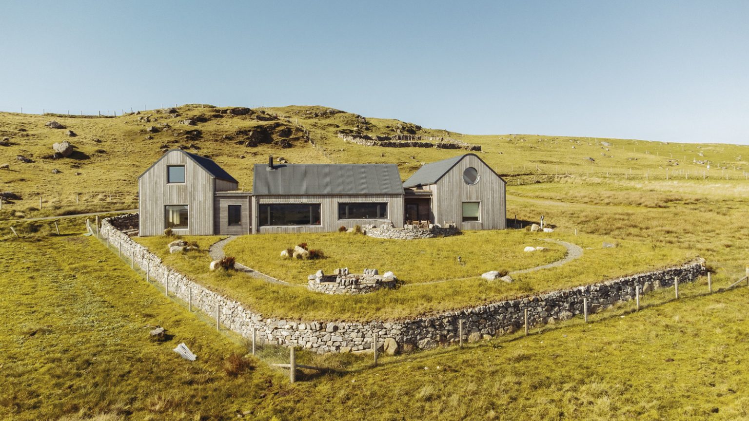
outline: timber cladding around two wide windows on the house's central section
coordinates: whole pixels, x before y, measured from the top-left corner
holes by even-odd
[[[403,227],[404,208],[402,195],[336,195],[336,196],[253,196],[257,205],[253,206],[252,223],[255,225],[253,232],[282,233],[282,232],[330,232],[338,231],[345,226],[353,228],[354,225],[390,223],[395,227]],[[338,219],[339,202],[386,202],[387,219]],[[260,226],[258,225],[258,206],[273,203],[319,203],[321,225],[290,225],[290,226]]]

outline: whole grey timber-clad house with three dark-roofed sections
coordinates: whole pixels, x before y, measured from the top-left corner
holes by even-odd
[[[506,228],[505,181],[475,154],[422,166],[255,164],[252,192],[206,157],[166,152],[138,178],[139,234],[330,232],[341,226]]]

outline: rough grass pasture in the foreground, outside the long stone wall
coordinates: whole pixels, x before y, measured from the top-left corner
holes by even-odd
[[[64,234],[69,234],[65,232]],[[4,420],[741,420],[749,417],[748,288],[704,279],[598,315],[468,345],[385,357],[289,387],[130,271],[93,238],[0,243]],[[19,256],[24,256],[19,258]],[[40,267],[46,270],[41,271]],[[718,280],[718,286],[727,280]],[[175,337],[160,344],[160,324]],[[186,342],[198,360],[172,352]],[[303,355],[303,354],[302,354]]]

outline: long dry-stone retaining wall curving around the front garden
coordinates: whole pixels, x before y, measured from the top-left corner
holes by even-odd
[[[624,276],[595,285],[401,321],[295,321],[264,318],[237,301],[222,297],[166,267],[161,259],[149,252],[145,246],[136,243],[112,226],[111,221],[127,217],[115,216],[104,219],[101,234],[104,238],[108,237],[109,242],[115,247],[121,247],[123,255],[128,258],[132,256],[138,267],[148,270],[152,282],[168,282],[169,292],[185,301],[189,299],[192,291],[192,305],[208,315],[216,314],[218,304],[221,324],[242,336],[249,338],[252,336],[252,330],[256,329],[261,341],[296,345],[318,353],[370,349],[374,334],[377,334],[378,342],[382,342],[387,351],[404,352],[414,348],[428,349],[449,345],[458,341],[458,322],[461,320],[464,321],[464,339],[468,341],[512,333],[523,327],[525,309],[528,310],[530,326],[565,320],[583,312],[583,297],[588,299],[589,311],[594,313],[620,301],[632,300],[635,285],[643,288],[642,291],[646,294],[655,288],[673,285],[677,277],[679,282],[692,282],[706,270],[704,260],[699,259],[664,270]]]

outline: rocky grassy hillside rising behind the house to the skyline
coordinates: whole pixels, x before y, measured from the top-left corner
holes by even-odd
[[[182,124],[185,120],[195,125]],[[66,128],[45,127],[47,121],[58,121]],[[148,131],[151,127],[154,129]],[[67,130],[76,136],[66,136]],[[252,188],[252,164],[266,162],[268,154],[291,163],[397,163],[402,178],[407,178],[422,163],[462,152],[363,146],[339,139],[336,135],[340,132],[440,136],[480,145],[479,156],[511,185],[570,178],[594,182],[664,180],[667,169],[670,180],[685,176],[701,180],[708,175],[709,181],[726,176],[743,180],[749,168],[746,146],[463,135],[319,106],[249,110],[186,105],[114,118],[2,112],[0,139],[7,140],[0,143],[0,165],[7,163],[10,169],[0,170],[0,191],[15,193],[21,199],[5,202],[0,219],[133,208],[137,177],[164,148],[181,147],[212,157],[240,181],[243,190]],[[73,155],[49,157],[54,152],[52,144],[64,140],[76,148]],[[33,162],[16,160],[19,155]],[[55,169],[58,173],[53,173]]]

